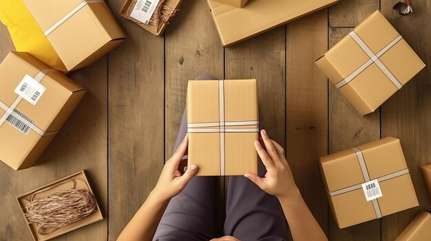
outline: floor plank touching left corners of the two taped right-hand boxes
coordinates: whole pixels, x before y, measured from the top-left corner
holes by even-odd
[[[328,10],[287,25],[286,157],[304,200],[328,231],[317,159],[328,152],[328,84],[315,60],[328,48]]]

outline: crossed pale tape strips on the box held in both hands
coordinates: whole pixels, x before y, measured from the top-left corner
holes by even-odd
[[[258,133],[259,121],[224,122],[224,80],[218,80],[219,122],[187,123],[187,133],[220,133],[220,175],[224,176],[225,133]],[[233,126],[233,128],[226,128]],[[257,126],[256,128],[234,128]]]

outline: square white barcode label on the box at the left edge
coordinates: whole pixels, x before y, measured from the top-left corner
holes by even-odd
[[[32,76],[25,74],[23,80],[19,82],[17,89],[15,89],[15,93],[32,105],[35,105],[42,97],[45,90],[46,88],[41,83],[34,80]]]

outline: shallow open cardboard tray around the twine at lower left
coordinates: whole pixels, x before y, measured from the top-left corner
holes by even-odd
[[[26,192],[25,194],[21,194],[17,196],[17,201],[18,201],[19,207],[21,208],[24,220],[26,220],[25,205],[30,203],[29,199],[30,199],[30,196],[32,196],[32,194],[34,194],[35,192],[38,192],[36,195],[34,195],[34,198],[45,198],[47,196],[50,196],[50,194],[52,194],[53,192],[67,190],[67,189],[88,190],[94,196],[94,193],[92,191],[92,188],[90,187],[90,183],[88,182],[85,172],[81,171],[76,174],[72,174],[63,179],[60,179],[59,181],[55,181],[54,183],[50,183],[43,187],[39,187],[36,190],[32,190],[30,192]],[[27,226],[30,229],[30,232],[32,233],[32,237],[34,241],[50,240],[51,238],[61,236],[63,233],[67,233],[75,229],[78,229],[80,227],[90,225],[99,220],[103,220],[103,214],[97,202],[96,202],[96,206],[97,206],[96,210],[92,212],[92,214],[90,214],[89,216],[86,216],[76,222],[72,222],[69,225],[66,225],[65,227],[56,229],[52,231],[52,233],[42,235],[37,231],[38,229],[35,224],[27,224]],[[48,230],[48,231],[51,231],[51,230]]]

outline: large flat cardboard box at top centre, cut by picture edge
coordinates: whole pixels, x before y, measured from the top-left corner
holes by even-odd
[[[337,3],[339,0],[253,0],[244,8],[207,0],[222,45],[231,46],[306,14]]]

